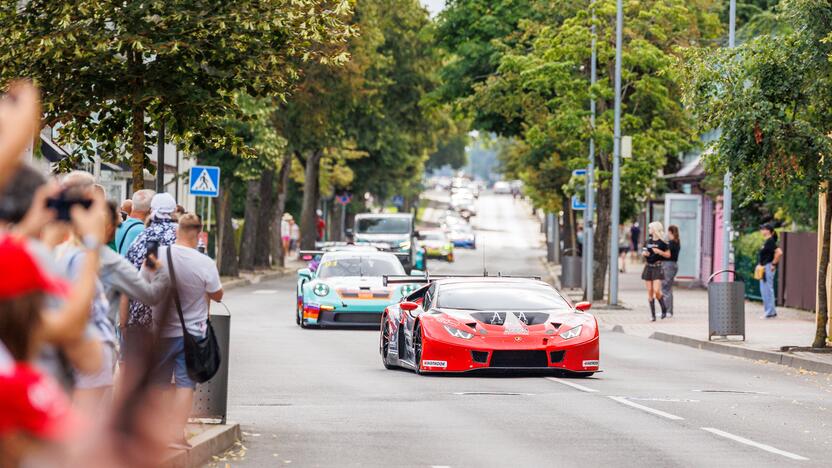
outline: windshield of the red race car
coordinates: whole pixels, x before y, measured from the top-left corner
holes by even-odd
[[[436,307],[462,310],[552,310],[569,305],[555,291],[538,285],[459,284],[439,290]]]

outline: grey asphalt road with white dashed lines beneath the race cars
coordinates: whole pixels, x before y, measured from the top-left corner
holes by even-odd
[[[477,273],[485,258],[542,275],[528,211],[510,196],[479,205],[478,250],[431,271]],[[229,420],[248,449],[231,466],[829,466],[829,375],[612,332],[589,379],[388,371],[377,331],[297,327],[294,281],[226,296]]]

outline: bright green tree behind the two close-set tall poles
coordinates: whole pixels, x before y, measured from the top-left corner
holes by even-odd
[[[553,2],[558,4],[559,2]],[[681,104],[675,54],[680,47],[715,37],[719,31],[713,2],[649,0],[627,2],[624,15],[622,129],[633,137],[634,157],[622,165],[622,213],[635,212],[660,184],[668,158],[691,147],[692,122]],[[598,83],[590,89],[588,69],[594,9],[598,36]],[[615,2],[574,5],[560,23],[523,23],[528,43],[503,54],[496,73],[475,86],[483,112],[519,122],[529,145],[525,180],[541,194],[556,190],[564,171],[583,167],[590,135],[596,142],[597,234],[595,288],[603,297],[609,257]],[[598,117],[588,122],[595,99]],[[542,171],[547,176],[539,177]],[[519,171],[523,175],[523,171]],[[552,183],[555,182],[555,185]],[[566,194],[564,194],[566,195]],[[564,197],[565,198],[565,197]],[[542,200],[541,200],[542,201]]]

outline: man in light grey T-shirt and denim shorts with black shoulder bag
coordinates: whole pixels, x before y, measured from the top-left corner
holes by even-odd
[[[176,243],[170,247],[159,248],[159,262],[168,268],[168,274],[176,277],[176,288],[182,305],[182,316],[187,332],[197,337],[204,337],[208,322],[209,301],[221,301],[223,297],[220,275],[216,264],[207,255],[196,250],[202,221],[193,213],[179,218]],[[167,260],[167,250],[171,249],[173,268]],[[142,274],[150,277],[153,273],[142,268]],[[153,323],[159,330],[160,359],[153,370],[154,384],[169,391],[171,379],[174,381],[172,407],[167,414],[171,416],[169,427],[173,429],[171,446],[187,448],[184,438],[185,424],[193,405],[196,383],[188,376],[185,363],[185,340],[183,330],[173,300],[173,288],[169,288],[168,297],[153,307]]]

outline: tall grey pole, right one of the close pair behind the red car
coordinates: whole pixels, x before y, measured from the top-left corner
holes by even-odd
[[[612,219],[610,221],[610,305],[618,304],[618,225],[621,210],[621,44],[624,6],[616,2],[615,15],[615,123],[612,149]]]

